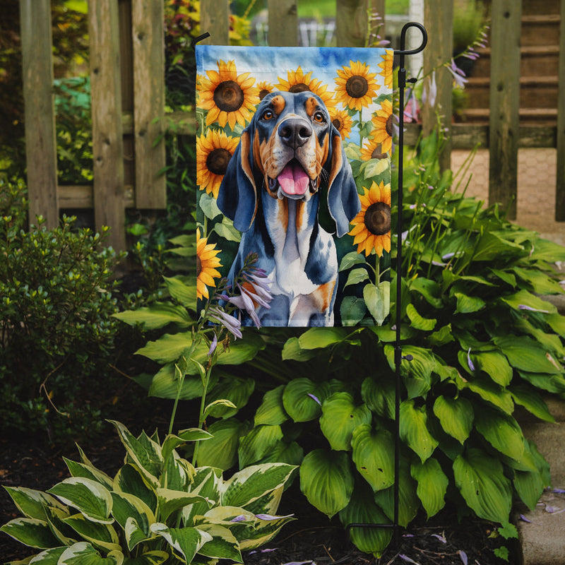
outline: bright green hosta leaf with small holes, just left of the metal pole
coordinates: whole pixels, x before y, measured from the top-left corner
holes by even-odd
[[[361,424],[353,430],[351,446],[355,467],[373,490],[394,483],[394,441],[390,432]]]

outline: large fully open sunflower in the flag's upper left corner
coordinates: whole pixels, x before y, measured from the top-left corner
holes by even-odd
[[[220,126],[235,124],[245,126],[255,112],[259,102],[255,78],[250,73],[237,74],[234,61],[218,61],[218,71],[206,71],[208,78],[199,81],[200,107],[209,110],[206,125],[218,122]]]

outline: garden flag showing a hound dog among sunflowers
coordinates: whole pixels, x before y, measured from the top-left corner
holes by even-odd
[[[197,45],[196,64],[198,299],[254,257],[263,326],[382,325],[393,52]]]

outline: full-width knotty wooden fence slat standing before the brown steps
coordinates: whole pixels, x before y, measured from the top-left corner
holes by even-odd
[[[516,219],[522,1],[492,0],[489,203]]]

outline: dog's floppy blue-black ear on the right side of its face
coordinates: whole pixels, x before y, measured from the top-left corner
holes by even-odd
[[[340,134],[335,127],[332,127],[330,135],[331,151],[328,159],[331,168],[328,184],[328,209],[335,222],[338,237],[341,237],[349,231],[349,222],[361,210],[361,203]]]

